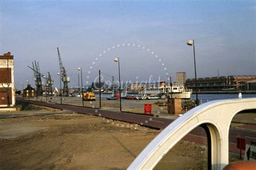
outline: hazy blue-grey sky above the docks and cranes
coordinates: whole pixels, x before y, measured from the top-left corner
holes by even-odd
[[[97,79],[164,80],[256,74],[256,1],[0,1],[0,55],[15,59],[15,86],[35,86],[37,61],[59,87],[62,63],[78,86]],[[160,77],[160,78],[159,78]]]

